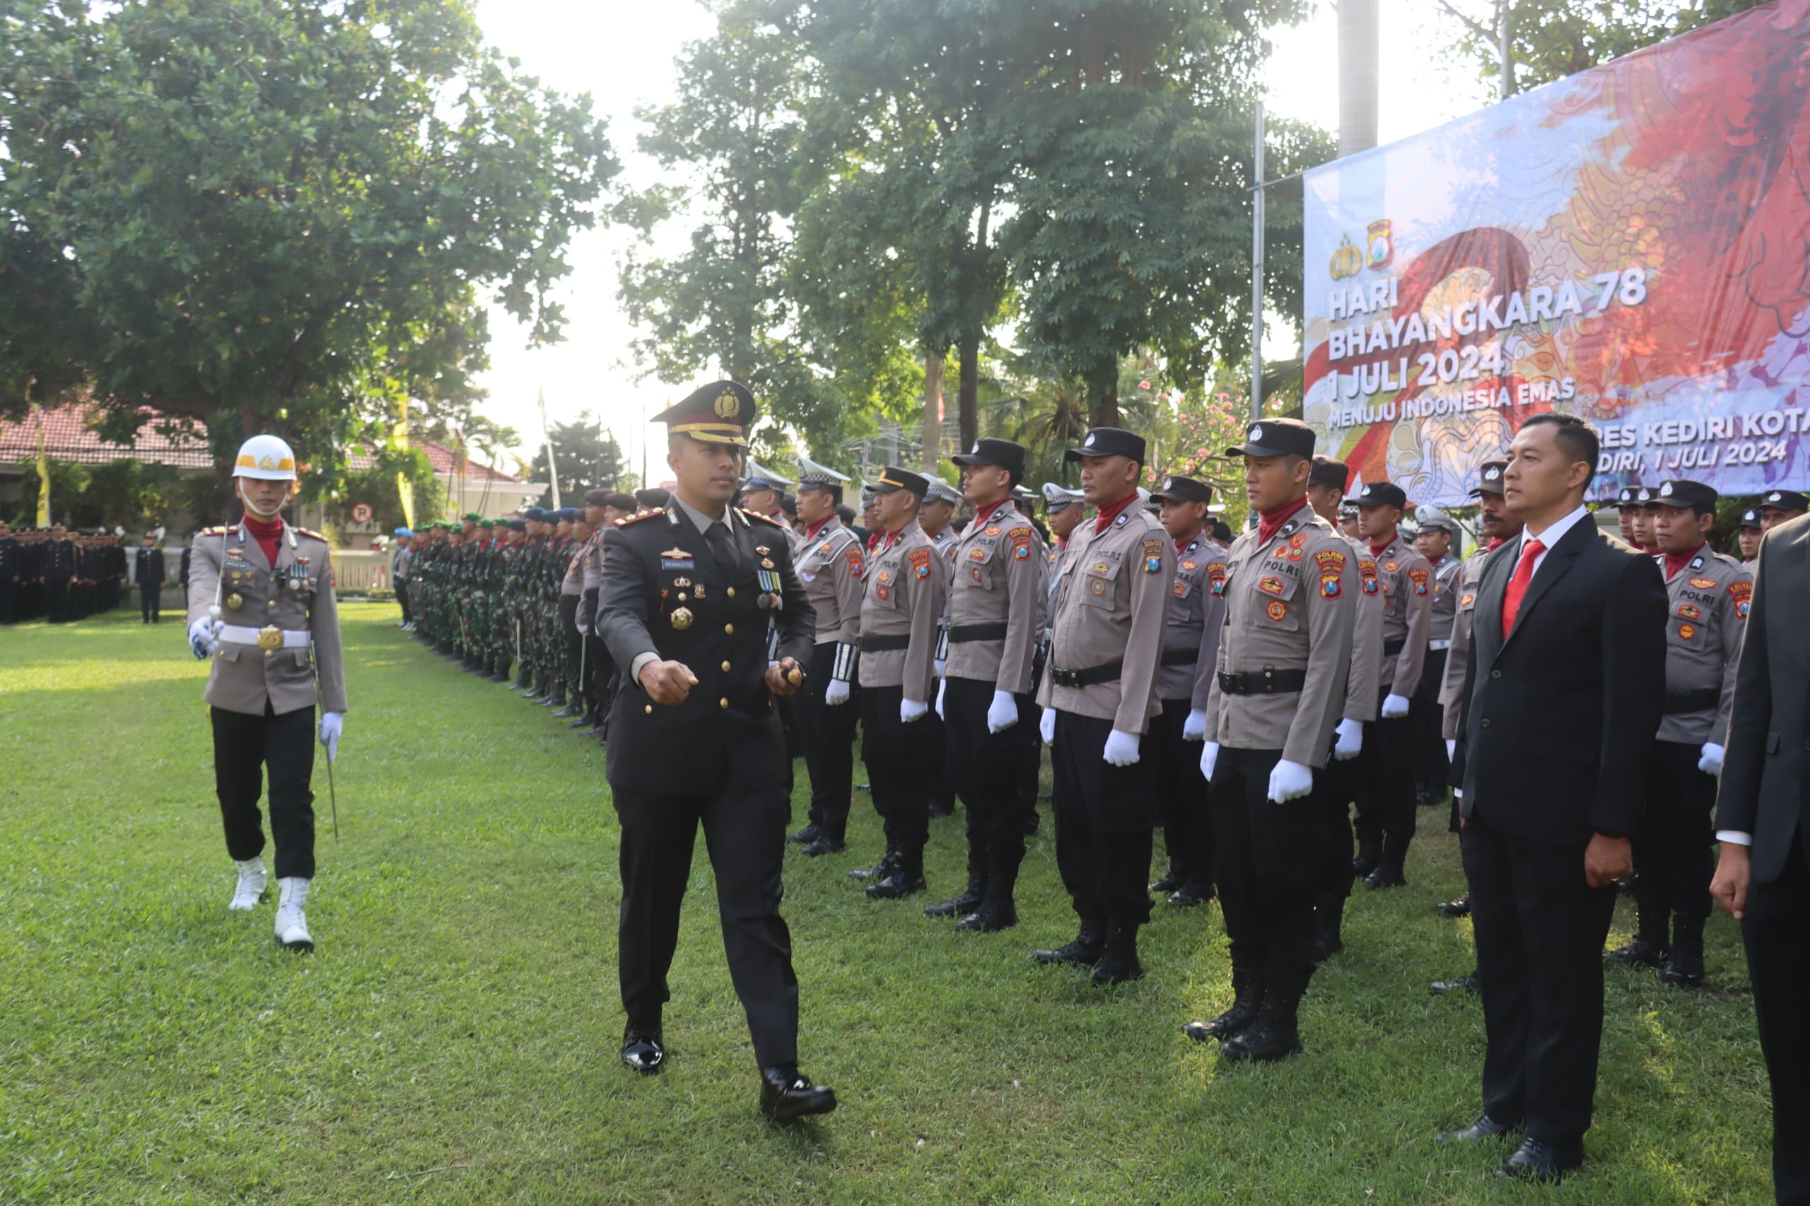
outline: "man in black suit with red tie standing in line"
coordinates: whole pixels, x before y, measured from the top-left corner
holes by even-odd
[[[1596,531],[1596,433],[1542,413],[1508,449],[1526,527],[1484,563],[1462,697],[1462,851],[1488,1047],[1484,1112],[1441,1139],[1526,1126],[1502,1172],[1584,1163],[1602,1045],[1602,942],[1633,867],[1665,697],[1665,583]]]

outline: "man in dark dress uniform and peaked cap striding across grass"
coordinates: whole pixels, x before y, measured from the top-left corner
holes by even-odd
[[[606,773],[623,828],[623,1063],[644,1076],[666,1063],[666,971],[702,824],[760,1110],[791,1121],[836,1108],[798,1072],[798,980],[780,918],[791,761],[775,697],[804,683],[816,617],[784,529],[729,507],[755,415],[729,380],[655,415],[679,485],[664,509],[617,520],[603,545],[599,628],[623,672]]]

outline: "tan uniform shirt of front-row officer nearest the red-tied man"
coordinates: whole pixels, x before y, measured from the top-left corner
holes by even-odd
[[[1359,589],[1350,543],[1312,507],[1301,507],[1265,545],[1254,531],[1234,540],[1225,558],[1218,672],[1303,670],[1307,681],[1300,692],[1233,695],[1215,679],[1207,737],[1325,766],[1345,710]]]

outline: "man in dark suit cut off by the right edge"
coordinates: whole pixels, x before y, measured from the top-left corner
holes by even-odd
[[[1786,520],[1759,543],[1752,612],[1734,679],[1729,751],[1716,800],[1721,857],[1710,895],[1741,922],[1772,1077],[1772,1188],[1810,1202],[1810,518]],[[1777,623],[1768,623],[1777,617]]]

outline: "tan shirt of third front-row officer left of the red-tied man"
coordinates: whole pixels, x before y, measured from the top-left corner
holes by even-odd
[[[1030,694],[1032,663],[1043,623],[1043,538],[1010,502],[983,523],[968,523],[950,545],[948,666],[943,677],[994,683],[994,690]],[[963,628],[1005,627],[1003,636]]]

